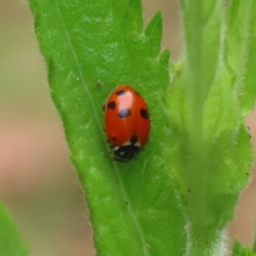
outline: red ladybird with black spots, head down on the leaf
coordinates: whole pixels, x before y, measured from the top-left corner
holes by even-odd
[[[103,105],[113,160],[130,161],[148,142],[150,119],[143,97],[129,85],[119,85]]]

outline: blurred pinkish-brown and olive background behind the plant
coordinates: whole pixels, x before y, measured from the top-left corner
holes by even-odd
[[[177,0],[144,0],[145,22],[163,10],[163,47],[181,48]],[[26,1],[0,0],[0,197],[32,256],[92,256],[88,210],[49,95],[44,59]],[[247,124],[256,145],[256,112]],[[255,171],[255,167],[254,167]],[[241,195],[230,238],[253,243],[256,183]]]

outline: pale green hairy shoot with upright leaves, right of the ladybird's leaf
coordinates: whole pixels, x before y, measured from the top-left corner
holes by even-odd
[[[249,0],[230,7],[184,0],[182,7],[185,48],[167,99],[166,158],[189,220],[189,255],[223,255],[223,231],[253,160],[244,116],[256,96],[255,7]]]

